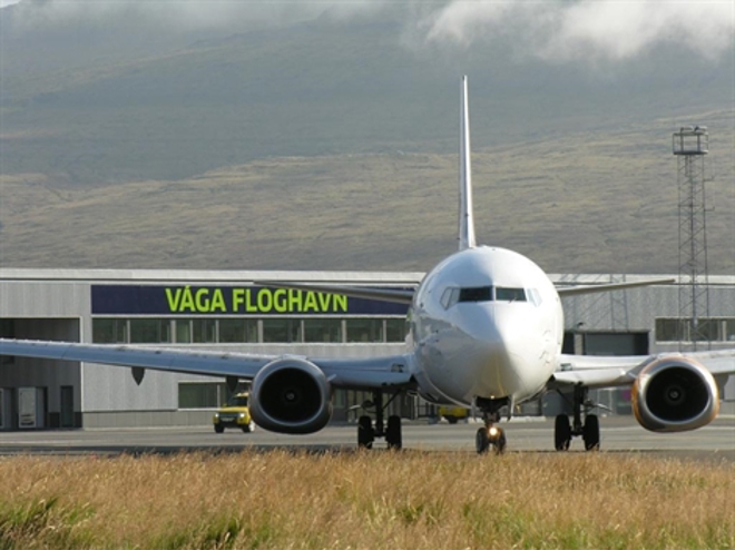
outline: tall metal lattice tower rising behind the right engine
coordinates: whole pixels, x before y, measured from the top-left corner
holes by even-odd
[[[688,340],[693,350],[698,343],[709,346],[710,341],[704,163],[708,150],[706,127],[687,126],[674,132],[679,191],[679,347]]]

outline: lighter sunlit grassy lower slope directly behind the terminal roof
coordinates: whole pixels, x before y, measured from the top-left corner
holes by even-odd
[[[729,120],[703,117],[713,131]],[[727,145],[708,158],[719,274],[735,272]],[[557,273],[675,273],[669,147],[658,122],[477,151],[479,240]],[[95,187],[27,175],[6,177],[0,253],[3,266],[427,269],[455,247],[455,154],[276,157]]]

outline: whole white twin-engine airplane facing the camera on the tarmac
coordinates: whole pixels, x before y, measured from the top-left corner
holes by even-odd
[[[357,444],[372,448],[383,438],[402,448],[401,419],[384,419],[403,393],[430,403],[479,412],[483,423],[476,450],[502,453],[502,411],[548,392],[571,394],[572,419],[555,421],[555,448],[566,451],[575,436],[585,449],[600,446],[598,416],[588,399],[594,387],[631,386],[639,424],[655,432],[694,430],[718,413],[718,382],[735,373],[735,350],[648,356],[584,356],[561,353],[561,296],[618,291],[673,279],[557,288],[531,259],[476,240],[470,164],[468,78],[460,94],[459,249],[431,269],[412,289],[258,284],[340,293],[410,305],[410,336],[401,355],[372,359],[311,359],[253,355],[135,345],[0,340],[0,355],[81,361],[131,367],[137,383],[145,370],[225,377],[251,385],[251,414],[261,428],[288,434],[313,433],[331,419],[335,389],[372,392],[375,420],[362,415]],[[384,403],[384,395],[391,395]],[[370,406],[366,403],[365,406]]]

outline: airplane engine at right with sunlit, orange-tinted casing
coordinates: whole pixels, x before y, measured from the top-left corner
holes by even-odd
[[[633,384],[633,412],[651,432],[684,432],[712,422],[719,392],[712,373],[692,357],[669,355],[640,371]]]

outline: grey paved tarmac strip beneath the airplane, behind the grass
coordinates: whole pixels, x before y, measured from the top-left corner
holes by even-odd
[[[735,419],[717,419],[693,432],[657,434],[640,428],[633,418],[600,419],[604,452],[635,452],[660,456],[735,462]],[[423,451],[474,452],[478,424],[449,425],[410,422],[403,426],[403,446]],[[553,421],[513,421],[504,425],[509,452],[552,452]],[[281,435],[256,430],[215,434],[210,428],[72,430],[0,433],[0,454],[118,454],[170,453],[244,449],[351,451],[356,448],[356,428],[335,425],[311,435]],[[384,446],[376,442],[376,448]],[[575,439],[571,452],[581,452]]]

